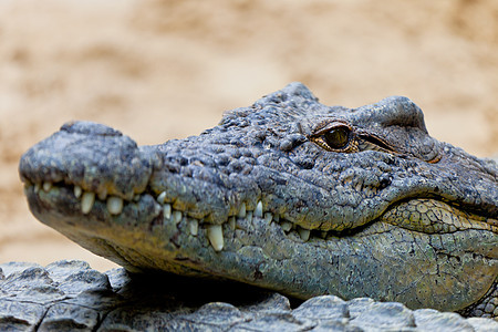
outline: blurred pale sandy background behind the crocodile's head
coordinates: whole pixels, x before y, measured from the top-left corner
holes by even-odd
[[[430,134],[498,152],[498,1],[0,0],[0,262],[113,264],[29,212],[20,155],[70,120],[196,135],[292,81],[350,107],[400,94]]]

